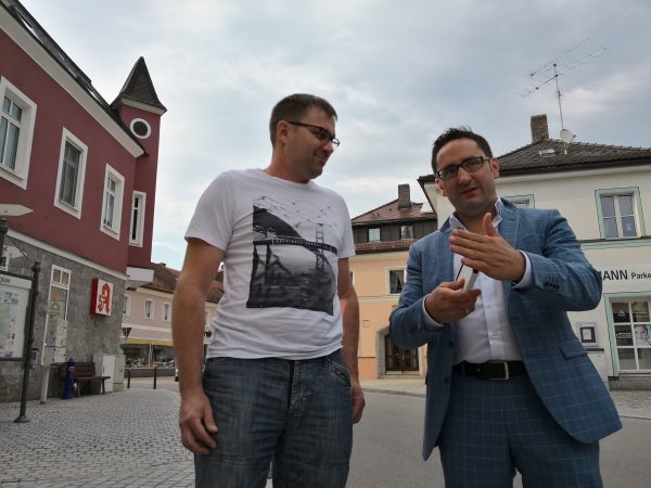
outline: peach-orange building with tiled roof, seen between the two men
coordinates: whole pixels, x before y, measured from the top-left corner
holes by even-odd
[[[405,283],[409,246],[436,230],[436,216],[410,198],[409,184],[398,198],[352,219],[356,256],[349,258],[359,297],[359,375],[424,375],[423,349],[401,349],[388,335],[388,316]]]

